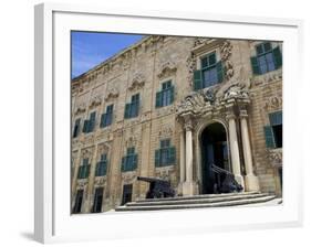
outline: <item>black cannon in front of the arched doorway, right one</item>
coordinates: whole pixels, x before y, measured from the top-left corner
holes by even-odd
[[[211,171],[217,175],[218,182],[215,184],[215,193],[232,193],[232,192],[241,192],[243,190],[242,185],[240,185],[236,179],[235,175],[225,170],[221,169],[215,164],[211,164]],[[225,174],[226,178],[220,182],[220,174]]]

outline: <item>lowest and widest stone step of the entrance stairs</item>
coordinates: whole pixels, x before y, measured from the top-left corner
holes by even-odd
[[[247,204],[265,203],[276,198],[276,195],[260,196],[256,198],[242,198],[237,201],[225,201],[214,203],[199,203],[199,204],[176,204],[176,205],[148,205],[148,206],[120,206],[116,212],[124,211],[162,211],[162,210],[186,210],[186,208],[204,208],[204,207],[225,207],[225,206],[239,206]]]

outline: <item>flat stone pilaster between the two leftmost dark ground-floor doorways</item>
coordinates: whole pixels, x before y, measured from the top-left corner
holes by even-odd
[[[85,205],[85,213],[90,213],[93,206],[93,191],[94,191],[94,180],[95,180],[95,170],[96,170],[96,163],[97,163],[97,148],[99,146],[95,144],[93,157],[91,160],[91,168],[90,168],[90,174],[87,180],[87,200]]]

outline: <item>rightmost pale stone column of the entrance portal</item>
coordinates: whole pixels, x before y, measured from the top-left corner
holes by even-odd
[[[246,191],[259,191],[258,178],[253,174],[252,171],[252,157],[249,141],[248,124],[247,124],[247,111],[240,110],[240,122],[241,122],[241,137],[243,146],[243,158],[245,158],[245,168],[246,168]]]

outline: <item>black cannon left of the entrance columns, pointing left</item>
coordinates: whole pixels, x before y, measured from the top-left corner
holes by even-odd
[[[176,194],[175,190],[170,186],[170,183],[166,180],[145,176],[137,176],[137,180],[149,183],[146,198],[174,197]]]

